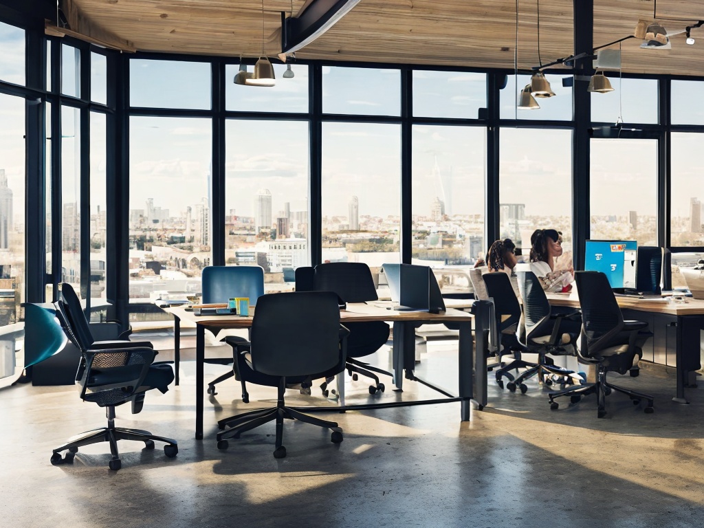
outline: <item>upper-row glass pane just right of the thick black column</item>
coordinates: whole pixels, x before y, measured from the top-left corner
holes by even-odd
[[[591,94],[593,122],[658,122],[658,81],[610,77],[613,92]]]

